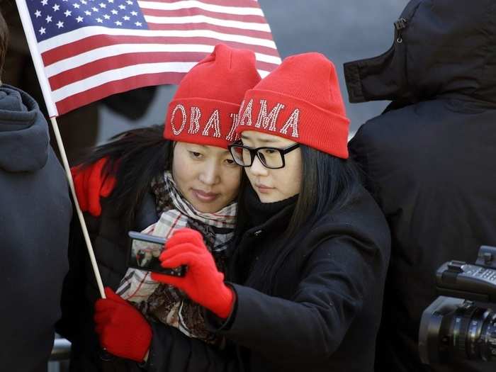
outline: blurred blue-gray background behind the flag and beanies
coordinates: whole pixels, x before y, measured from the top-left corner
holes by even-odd
[[[393,22],[407,0],[259,0],[281,57],[321,52],[334,62],[339,74],[353,134],[363,122],[381,113],[385,102],[348,103],[343,63],[374,57],[393,44]],[[99,142],[123,130],[162,123],[176,86],[161,86],[147,114],[131,122],[101,108]],[[108,125],[110,124],[110,125]]]

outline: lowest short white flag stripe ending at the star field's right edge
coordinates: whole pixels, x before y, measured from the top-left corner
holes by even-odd
[[[266,33],[271,32],[271,28],[267,23],[227,21],[225,19],[207,17],[202,15],[184,16],[184,17],[158,17],[158,16],[145,15],[145,21],[147,21],[148,23],[157,23],[161,25],[184,24],[184,23],[208,23],[210,25],[239,28],[241,30],[256,30],[256,31],[264,31]]]

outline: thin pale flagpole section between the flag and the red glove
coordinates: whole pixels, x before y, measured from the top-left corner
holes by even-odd
[[[67,161],[67,155],[65,154],[64,143],[62,142],[62,137],[60,136],[59,125],[57,124],[57,118],[50,118],[52,122],[53,133],[55,133],[55,139],[57,140],[57,145],[60,150],[60,156],[62,157],[62,164],[64,164],[65,175],[67,176],[67,181],[69,181],[69,188],[71,188],[72,198],[74,199],[74,205],[76,206],[77,217],[79,218],[79,224],[81,225],[81,230],[83,230],[84,242],[86,242],[86,247],[88,248],[89,259],[91,261],[91,266],[96,278],[96,284],[98,284],[98,290],[100,291],[101,298],[106,298],[105,292],[103,291],[103,283],[101,281],[100,271],[98,271],[98,265],[96,264],[95,254],[93,251],[93,246],[91,245],[91,240],[89,239],[88,229],[86,228],[86,223],[84,222],[84,216],[79,207],[79,202],[77,201],[76,191],[74,190],[74,181],[72,181],[71,169],[69,168],[69,162]]]

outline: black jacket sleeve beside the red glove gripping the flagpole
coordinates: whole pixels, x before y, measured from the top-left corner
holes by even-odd
[[[152,323],[152,329],[148,372],[245,371],[234,347],[220,350],[162,323]]]

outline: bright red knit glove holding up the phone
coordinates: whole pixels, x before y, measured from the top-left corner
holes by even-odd
[[[174,232],[159,257],[162,267],[187,265],[186,276],[152,273],[152,279],[180,288],[191,300],[222,318],[227,318],[235,301],[232,289],[225,285],[224,275],[215,266],[212,254],[203,243],[200,232],[188,228]]]

